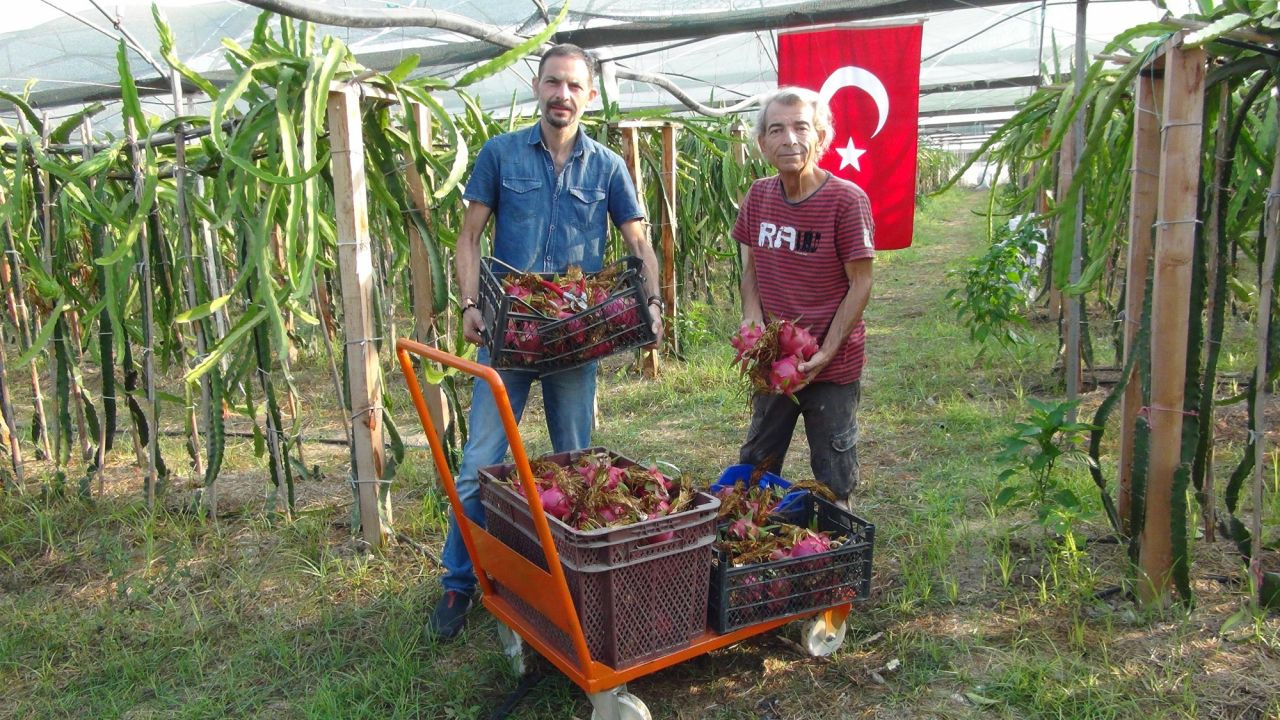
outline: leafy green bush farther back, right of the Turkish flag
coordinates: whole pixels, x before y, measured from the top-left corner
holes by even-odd
[[[947,292],[956,318],[969,328],[977,343],[1001,346],[1025,342],[1018,329],[1027,327],[1023,313],[1030,305],[1037,259],[1043,254],[1043,236],[1036,223],[1024,219],[1010,229],[997,225],[991,247],[965,270],[955,272],[964,283]]]

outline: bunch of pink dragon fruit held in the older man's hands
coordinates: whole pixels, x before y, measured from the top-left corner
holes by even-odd
[[[800,364],[818,352],[818,341],[791,320],[767,325],[746,322],[730,340],[737,351],[733,364],[751,382],[755,392],[794,397],[804,383]]]

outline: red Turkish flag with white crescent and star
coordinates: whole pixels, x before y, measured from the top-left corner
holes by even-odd
[[[867,191],[877,250],[911,245],[920,35],[911,24],[778,36],[778,85],[831,104],[836,137],[819,165]]]

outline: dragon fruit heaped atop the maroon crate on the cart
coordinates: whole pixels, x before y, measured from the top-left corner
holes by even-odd
[[[571,465],[550,460],[531,462],[543,510],[579,530],[614,528],[689,510],[696,492],[684,478],[672,479],[608,452],[588,452]],[[511,477],[524,497],[524,486]],[[667,539],[652,538],[652,542]]]

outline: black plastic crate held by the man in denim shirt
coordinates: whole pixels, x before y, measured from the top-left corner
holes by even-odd
[[[644,293],[644,263],[639,258],[627,256],[614,264],[618,274],[608,300],[568,318],[548,318],[507,295],[493,270],[498,265],[485,258],[480,272],[480,311],[494,368],[554,373],[657,340]]]

